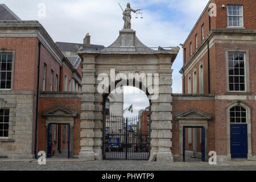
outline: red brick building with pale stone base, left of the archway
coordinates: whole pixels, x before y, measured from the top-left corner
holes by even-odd
[[[55,108],[56,112],[64,110],[64,117],[75,118],[70,126],[74,142],[69,143],[74,145],[71,153],[78,154],[81,59],[74,62],[65,56],[38,21],[23,21],[5,5],[0,5],[0,11],[0,57],[5,66],[1,69],[0,155],[34,158],[38,151],[46,151],[46,119]],[[67,153],[71,137],[68,125],[63,125],[67,123],[48,124],[51,154]]]

